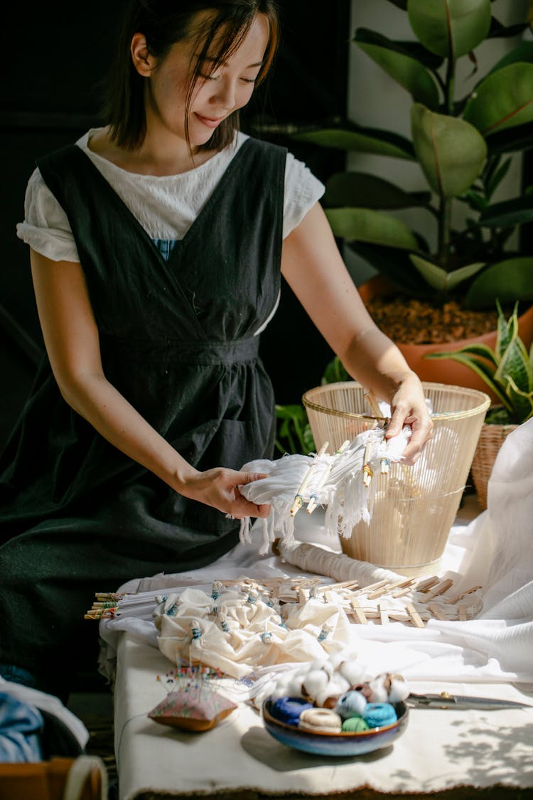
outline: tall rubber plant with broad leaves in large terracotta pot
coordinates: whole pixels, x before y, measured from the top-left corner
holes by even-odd
[[[405,98],[411,138],[395,130],[365,127],[350,120],[327,128],[299,130],[294,138],[316,146],[401,158],[420,166],[420,190],[406,191],[370,172],[344,171],[326,182],[324,208],[333,233],[364,258],[377,277],[361,286],[365,302],[373,294],[399,295],[400,305],[414,299],[432,306],[434,328],[447,331],[450,350],[464,342],[450,304],[488,318],[484,341],[495,342],[494,301],[506,308],[519,301],[520,332],[533,339],[533,254],[523,237],[533,221],[533,184],[517,181],[515,196],[495,200],[511,157],[533,146],[533,42],[522,41],[479,74],[476,48],[497,38],[519,38],[528,21],[520,12],[511,25],[492,14],[491,0],[387,0],[406,15],[412,39],[396,41],[379,30],[356,28],[353,45],[380,66],[392,90]],[[521,5],[521,4],[517,4]],[[523,6],[522,6],[523,8]],[[456,79],[461,59],[475,72],[475,85],[460,94]],[[364,118],[364,97],[358,114]],[[416,208],[420,230],[395,212]],[[454,222],[463,209],[463,222]],[[430,247],[423,233],[429,218],[435,227]],[[518,242],[518,244],[517,244]],[[373,283],[372,283],[373,281]],[[396,304],[397,305],[397,304]],[[372,315],[376,314],[370,306]],[[437,312],[444,311],[444,317]],[[447,316],[446,316],[447,314]],[[404,351],[421,378],[460,382],[447,367],[424,362],[427,350],[443,347],[413,342],[418,306],[406,320],[405,342],[392,330],[392,312],[376,318]],[[523,319],[523,317],[526,317]],[[476,334],[477,338],[477,334]],[[414,340],[416,342],[416,339]],[[462,370],[462,379],[469,376]],[[480,388],[475,379],[473,385]]]

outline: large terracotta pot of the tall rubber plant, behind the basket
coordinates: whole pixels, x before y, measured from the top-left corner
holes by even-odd
[[[369,281],[359,286],[359,293],[363,302],[366,304],[372,298],[378,295],[395,294],[396,289],[383,278],[381,275],[376,275],[370,278]],[[519,317],[519,336],[523,340],[525,346],[529,349],[531,342],[533,342],[533,305],[530,306]],[[459,350],[473,342],[483,342],[487,346],[494,349],[496,344],[496,331],[491,333],[475,336],[467,339],[460,339],[457,342],[439,342],[437,344],[415,345],[404,344],[402,342],[395,342],[399,347],[405,360],[411,369],[416,372],[421,381],[447,383],[451,386],[465,386],[467,389],[477,389],[486,392],[493,402],[498,398],[495,397],[487,384],[479,378],[473,370],[468,369],[463,364],[458,364],[455,361],[436,360],[429,361],[424,358],[428,353],[438,353],[443,350]]]

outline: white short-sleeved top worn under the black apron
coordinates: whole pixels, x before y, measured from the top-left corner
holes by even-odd
[[[96,130],[89,130],[76,144],[154,240],[175,240],[185,236],[229,162],[248,138],[246,134],[238,132],[232,145],[193,170],[177,175],[155,176],[127,172],[89,150],[89,138]],[[315,178],[303,162],[288,153],[285,168],[284,238],[299,225],[322,194],[324,184]],[[24,214],[24,222],[17,225],[18,238],[53,261],[79,262],[78,250],[66,214],[46,186],[38,169],[34,170],[26,188]]]

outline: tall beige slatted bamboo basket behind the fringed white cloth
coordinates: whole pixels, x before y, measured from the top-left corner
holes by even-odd
[[[423,382],[432,403],[433,438],[414,466],[392,463],[372,480],[372,517],[359,522],[351,538],[340,537],[344,552],[404,574],[434,570],[455,520],[481,427],[491,400],[462,386]],[[364,387],[330,383],[308,390],[302,402],[316,448],[336,450],[376,422]]]

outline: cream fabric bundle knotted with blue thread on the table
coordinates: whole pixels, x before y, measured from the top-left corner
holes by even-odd
[[[173,664],[201,663],[233,678],[257,666],[308,662],[343,650],[350,622],[340,598],[279,606],[257,593],[188,588],[161,598],[153,611],[157,644]]]

